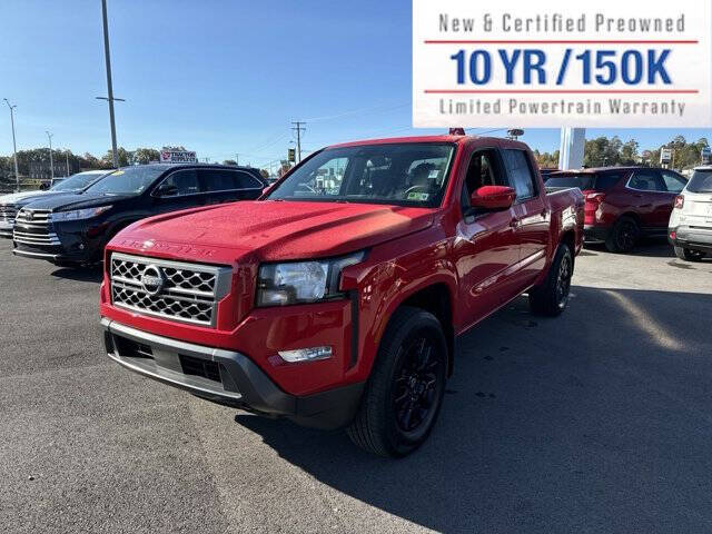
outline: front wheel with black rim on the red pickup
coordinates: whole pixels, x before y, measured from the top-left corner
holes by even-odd
[[[346,432],[360,448],[403,457],[428,437],[443,404],[447,344],[434,315],[408,306],[386,332],[356,417]]]

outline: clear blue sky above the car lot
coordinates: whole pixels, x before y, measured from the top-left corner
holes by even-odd
[[[411,0],[108,0],[120,146],[184,145],[211,161],[412,134]],[[0,99],[17,103],[18,148],[110,147],[100,0],[3,0]],[[3,102],[2,102],[3,103]],[[0,108],[0,154],[12,150]],[[433,130],[417,130],[431,134]],[[476,134],[477,130],[468,130]],[[589,130],[656,148],[712,130]],[[541,151],[558,130],[527,130]]]

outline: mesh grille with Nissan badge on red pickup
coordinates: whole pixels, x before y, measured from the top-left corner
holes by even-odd
[[[144,274],[160,278],[156,288]],[[171,320],[215,327],[217,303],[230,287],[228,267],[170,261],[115,253],[111,255],[111,301],[120,308]]]

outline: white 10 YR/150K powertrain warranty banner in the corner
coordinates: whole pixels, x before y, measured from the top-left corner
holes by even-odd
[[[711,30],[709,0],[413,0],[413,122],[710,127]]]

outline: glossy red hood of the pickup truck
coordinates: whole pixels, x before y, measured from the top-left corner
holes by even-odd
[[[260,261],[340,256],[428,228],[433,210],[365,204],[243,201],[144,219],[116,248],[200,250],[202,257]],[[184,259],[184,258],[180,258]]]

